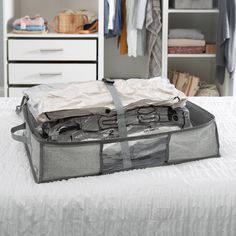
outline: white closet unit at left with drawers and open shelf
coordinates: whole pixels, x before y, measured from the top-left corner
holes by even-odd
[[[49,5],[54,5],[50,7]],[[37,84],[68,83],[103,78],[103,1],[4,0],[5,95],[22,96]],[[99,16],[95,34],[13,34],[13,19],[40,13],[52,22],[63,9],[88,9]],[[101,19],[101,20],[100,20]],[[50,28],[50,27],[49,27]]]

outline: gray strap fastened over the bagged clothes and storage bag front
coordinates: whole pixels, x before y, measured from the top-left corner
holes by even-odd
[[[114,81],[109,79],[103,79],[104,83],[107,86],[107,89],[111,93],[113,98],[116,111],[117,111],[117,121],[118,121],[118,130],[121,138],[127,137],[127,128],[125,121],[125,111],[123,109],[122,102],[120,100],[120,96],[114,86]],[[121,144],[121,153],[123,157],[123,167],[124,169],[129,169],[132,167],[131,158],[130,158],[130,149],[128,141],[123,141]]]

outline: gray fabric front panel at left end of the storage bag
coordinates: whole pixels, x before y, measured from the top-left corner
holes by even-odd
[[[100,172],[100,145],[43,147],[43,180],[86,176]]]

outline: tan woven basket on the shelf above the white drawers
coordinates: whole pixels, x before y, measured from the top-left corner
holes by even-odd
[[[58,16],[54,17],[52,28],[57,33],[79,34],[83,31],[87,21],[87,16],[81,13],[60,12]]]

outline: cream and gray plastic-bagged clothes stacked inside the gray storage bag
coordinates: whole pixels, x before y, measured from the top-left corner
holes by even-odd
[[[187,97],[161,77],[116,80],[125,110],[127,136],[189,128]],[[114,101],[102,81],[39,85],[25,91],[42,138],[77,142],[118,138]]]

